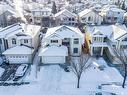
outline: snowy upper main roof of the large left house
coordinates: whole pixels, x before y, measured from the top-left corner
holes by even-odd
[[[8,38],[16,34],[26,34],[34,37],[40,30],[40,26],[26,25],[26,24],[13,24],[8,27],[0,29],[0,37]]]

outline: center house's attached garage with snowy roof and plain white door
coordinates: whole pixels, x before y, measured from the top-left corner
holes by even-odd
[[[65,46],[48,46],[43,48],[39,54],[43,64],[63,64],[68,56],[68,49]]]

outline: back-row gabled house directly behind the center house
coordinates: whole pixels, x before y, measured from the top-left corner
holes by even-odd
[[[55,14],[55,20],[57,25],[71,25],[74,26],[77,23],[76,14],[64,9]]]

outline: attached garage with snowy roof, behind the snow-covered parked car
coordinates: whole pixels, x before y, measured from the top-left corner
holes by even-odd
[[[22,64],[32,62],[33,49],[26,46],[15,46],[3,52],[10,64]]]

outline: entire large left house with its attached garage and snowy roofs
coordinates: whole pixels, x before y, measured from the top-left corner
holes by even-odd
[[[14,24],[0,30],[0,50],[10,64],[32,63],[40,26]]]

